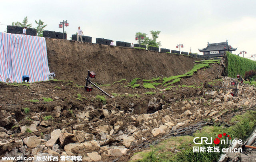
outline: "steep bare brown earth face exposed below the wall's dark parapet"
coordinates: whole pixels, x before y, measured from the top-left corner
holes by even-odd
[[[151,79],[184,74],[194,66],[189,56],[142,49],[46,38],[50,71],[58,80],[84,83],[87,70],[96,72],[96,82],[111,83],[123,78]]]

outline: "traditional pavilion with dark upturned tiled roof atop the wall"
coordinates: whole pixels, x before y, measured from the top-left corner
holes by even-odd
[[[202,50],[199,50],[200,52],[204,52],[204,55],[211,56],[211,57],[221,57],[223,56],[224,52],[228,51],[232,53],[232,51],[235,51],[237,48],[232,48],[230,45],[228,45],[228,40],[226,42],[220,42],[220,43],[209,43],[207,44],[206,48],[203,48]]]

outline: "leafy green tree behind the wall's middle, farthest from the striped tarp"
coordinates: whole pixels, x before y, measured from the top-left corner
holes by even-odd
[[[152,39],[147,37],[146,33],[142,32],[136,32],[135,36],[136,37],[144,37],[144,39],[140,40],[140,44],[146,45],[146,46],[156,46],[159,47],[161,46],[161,42],[156,42],[156,39],[158,38],[158,35],[160,34],[161,31],[153,31],[151,30],[150,33],[152,34]],[[139,43],[139,40],[138,40]]]

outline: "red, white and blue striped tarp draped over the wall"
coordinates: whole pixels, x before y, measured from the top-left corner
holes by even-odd
[[[50,73],[44,37],[0,32],[0,81],[29,82],[48,80]]]

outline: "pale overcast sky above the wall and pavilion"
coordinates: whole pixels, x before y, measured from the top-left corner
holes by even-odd
[[[160,48],[202,54],[207,42],[225,42],[237,48],[233,54],[247,51],[249,58],[256,44],[256,0],[2,0],[0,32],[6,25],[34,20],[47,24],[45,30],[62,32],[68,39],[81,27],[84,35],[116,41],[136,43],[135,33],[143,32],[151,38],[150,30],[160,30]],[[240,55],[241,56],[241,55]]]

